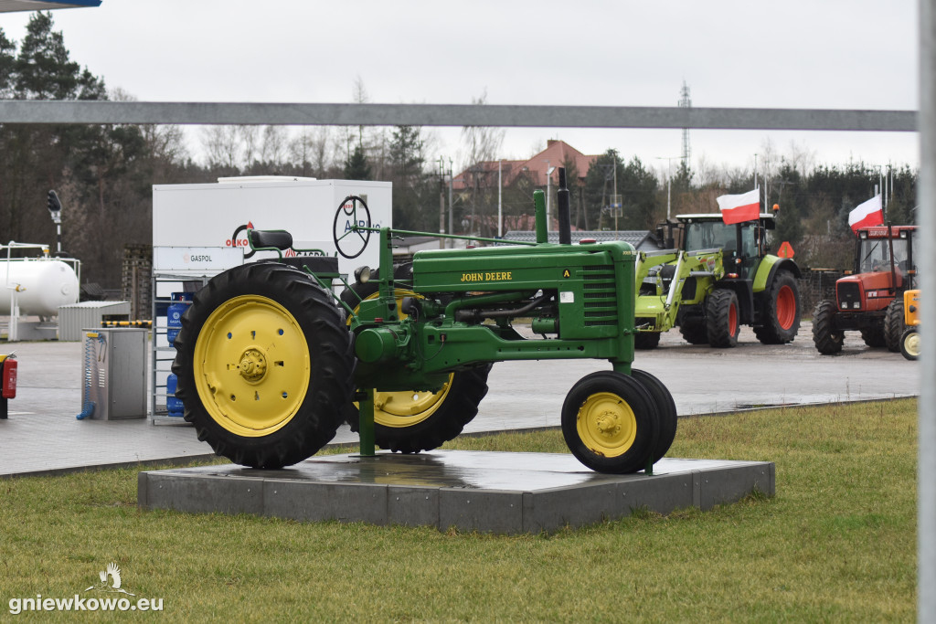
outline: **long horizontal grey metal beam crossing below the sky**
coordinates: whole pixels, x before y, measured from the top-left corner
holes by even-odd
[[[915,110],[0,101],[0,123],[423,125],[915,132]]]

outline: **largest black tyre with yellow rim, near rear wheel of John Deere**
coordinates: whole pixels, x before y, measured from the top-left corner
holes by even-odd
[[[342,424],[349,339],[331,295],[304,271],[270,262],[231,268],[183,314],[172,371],[184,418],[198,440],[241,466],[300,462]]]

